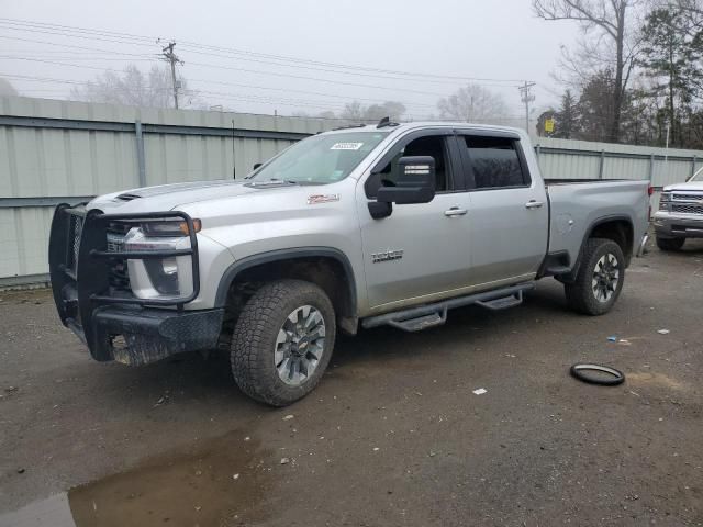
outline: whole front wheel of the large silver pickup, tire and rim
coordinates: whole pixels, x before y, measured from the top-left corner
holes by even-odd
[[[315,318],[311,324],[315,324],[315,335],[324,334],[322,340],[319,336],[298,337],[297,332],[304,333],[305,324],[291,321],[297,317],[306,319],[304,313],[310,319]],[[234,328],[230,355],[234,380],[244,393],[257,401],[272,406],[291,404],[320,382],[332,357],[335,334],[332,302],[317,285],[301,280],[267,283],[246,303]],[[301,359],[298,354],[313,354],[313,345],[320,351],[319,360],[312,359],[315,355]],[[287,363],[282,359],[277,365],[283,356],[290,361]],[[306,368],[312,370],[309,375],[302,374],[303,359]],[[313,362],[314,366],[310,366]],[[292,365],[292,370],[288,371],[290,375],[284,374],[287,365]]]

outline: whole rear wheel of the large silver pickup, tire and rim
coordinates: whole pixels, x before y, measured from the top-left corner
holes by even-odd
[[[605,285],[609,277],[611,285]],[[563,285],[567,303],[579,313],[603,315],[617,301],[624,280],[625,257],[620,245],[611,239],[590,238],[576,280]]]

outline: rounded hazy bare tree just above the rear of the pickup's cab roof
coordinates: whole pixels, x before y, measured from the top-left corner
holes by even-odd
[[[505,119],[507,104],[502,96],[479,85],[468,85],[437,103],[442,119],[492,123]]]

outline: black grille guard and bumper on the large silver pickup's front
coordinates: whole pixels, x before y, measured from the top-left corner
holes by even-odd
[[[115,253],[107,246],[105,229],[110,222],[172,216],[188,222],[190,249]],[[182,255],[192,258],[193,287],[188,296],[140,299],[115,289],[110,281],[115,260]],[[200,283],[198,240],[192,220],[185,213],[108,215],[59,205],[52,222],[49,272],[62,323],[78,335],[96,360],[138,366],[217,345],[224,310],[183,309],[198,295]]]

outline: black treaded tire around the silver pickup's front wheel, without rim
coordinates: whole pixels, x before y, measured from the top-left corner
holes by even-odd
[[[290,385],[283,382],[277,369],[277,338],[283,325],[289,324],[289,315],[302,306],[312,306],[322,316],[324,344],[321,345],[322,357],[312,373],[300,385]],[[335,334],[334,307],[317,285],[301,280],[267,283],[246,303],[234,328],[230,354],[234,380],[244,393],[257,401],[271,406],[291,404],[320,382],[332,357]]]

